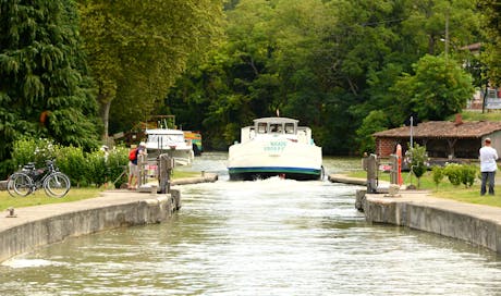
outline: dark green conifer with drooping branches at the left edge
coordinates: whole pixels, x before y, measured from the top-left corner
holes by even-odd
[[[0,160],[22,136],[97,146],[97,109],[73,1],[0,2]],[[1,174],[10,168],[2,162]]]

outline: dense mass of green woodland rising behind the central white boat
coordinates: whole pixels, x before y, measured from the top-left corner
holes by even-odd
[[[412,113],[414,106],[402,110],[389,89],[427,52],[443,54],[447,23],[451,61],[481,36],[469,0],[231,3],[227,41],[209,64],[180,79],[183,91],[169,96],[181,113],[193,109],[181,103],[186,98],[203,106],[201,127],[211,139],[237,131],[225,125],[246,125],[280,109],[311,126],[325,153],[356,153],[364,143],[356,130],[371,111],[384,112],[388,127]]]

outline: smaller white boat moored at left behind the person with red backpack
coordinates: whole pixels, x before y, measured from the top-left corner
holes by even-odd
[[[186,140],[183,131],[172,128],[146,130],[146,150],[148,159],[167,153],[174,159],[175,164],[190,165],[194,159],[191,140]]]

